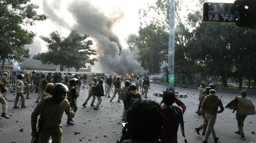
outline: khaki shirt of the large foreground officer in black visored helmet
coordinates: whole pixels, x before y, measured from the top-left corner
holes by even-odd
[[[69,108],[66,108],[67,105],[69,105]],[[54,128],[56,126],[62,127],[61,118],[64,111],[69,118],[73,118],[75,116],[75,113],[71,109],[67,99],[64,99],[57,104],[53,97],[44,98],[37,104],[37,107],[35,107],[31,114],[32,130],[36,130],[37,116],[39,115],[40,119],[44,120],[42,130],[49,130],[50,128]]]

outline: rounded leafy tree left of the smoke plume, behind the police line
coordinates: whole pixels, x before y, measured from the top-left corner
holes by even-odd
[[[96,50],[91,49],[93,42],[87,40],[89,35],[81,36],[76,30],[72,30],[67,38],[62,37],[58,32],[50,33],[49,37],[40,36],[48,47],[48,52],[38,53],[33,59],[40,60],[43,64],[60,65],[61,71],[64,66],[75,67],[76,71],[86,67],[86,63],[94,64],[96,58],[90,59],[91,55],[97,55]]]

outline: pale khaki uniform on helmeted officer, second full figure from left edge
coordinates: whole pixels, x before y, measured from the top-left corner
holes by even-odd
[[[25,107],[25,98],[24,98],[24,95],[23,95],[23,86],[24,86],[24,83],[22,82],[22,80],[17,79],[16,82],[15,82],[16,98],[15,98],[15,102],[14,102],[13,107],[17,107],[19,97],[21,97],[21,107]]]

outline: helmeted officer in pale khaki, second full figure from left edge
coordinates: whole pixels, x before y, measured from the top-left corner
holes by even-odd
[[[25,98],[23,95],[23,88],[24,88],[24,83],[22,82],[22,80],[24,79],[24,75],[23,74],[18,74],[17,75],[17,80],[15,82],[15,87],[16,87],[16,98],[15,98],[15,102],[14,102],[14,106],[13,108],[20,108],[17,107],[17,103],[19,101],[19,97],[21,97],[21,107],[25,108]]]

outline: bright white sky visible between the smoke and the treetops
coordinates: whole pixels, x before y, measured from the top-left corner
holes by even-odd
[[[31,2],[38,4],[39,9],[38,12],[44,13],[43,11],[43,1],[44,0],[31,0]],[[52,0],[46,0],[47,3],[51,3]],[[54,5],[56,7],[60,7],[61,11],[58,11],[59,17],[61,17],[64,21],[68,21],[70,25],[74,25],[76,22],[74,21],[72,15],[67,11],[67,6],[69,2],[72,0],[56,0],[59,1],[59,5]],[[74,1],[74,0],[73,0]],[[78,0],[83,1],[83,0]],[[85,1],[85,0],[84,0]],[[147,8],[148,3],[152,4],[156,0],[87,0],[90,1],[94,6],[96,6],[100,11],[102,11],[106,16],[111,17],[111,15],[115,14],[115,11],[123,11],[124,12],[124,18],[119,21],[119,23],[116,23],[113,27],[113,32],[117,34],[121,41],[121,45],[124,48],[127,48],[125,39],[127,36],[131,33],[137,34],[140,21],[139,21],[139,9],[140,8]],[[193,9],[195,8],[197,0],[184,0],[183,4],[187,5],[189,8]],[[208,2],[226,2],[226,3],[232,3],[234,0],[210,0]],[[181,11],[184,15],[187,13],[187,11]],[[41,41],[39,36],[48,36],[50,32],[53,32],[54,30],[59,31],[63,36],[68,36],[69,30],[65,27],[61,27],[57,25],[56,23],[52,22],[51,19],[47,19],[46,21],[38,21],[35,23],[35,25],[26,26],[26,29],[32,30],[33,32],[37,33],[36,40]],[[43,46],[44,50],[47,50],[46,43],[41,41],[41,45]]]

